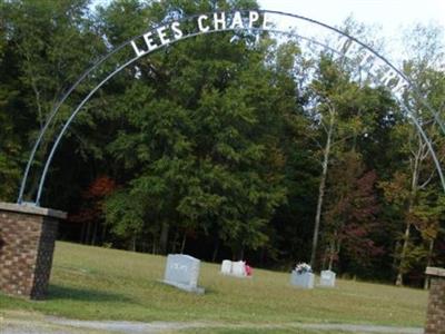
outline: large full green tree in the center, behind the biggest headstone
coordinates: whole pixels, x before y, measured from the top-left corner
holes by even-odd
[[[117,196],[149,202],[138,219],[155,217],[162,253],[172,229],[181,230],[182,244],[189,230],[216,229],[243,256],[265,244],[264,228],[285,198],[277,175],[283,157],[271,136],[281,96],[263,62],[267,45],[243,33],[211,45],[209,38],[138,63],[140,77],[116,106],[129,126],[109,149],[134,175]]]

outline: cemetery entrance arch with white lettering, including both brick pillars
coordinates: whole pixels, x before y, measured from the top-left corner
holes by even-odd
[[[44,296],[52,262],[57,220],[66,218],[66,214],[41,208],[40,199],[49,167],[59,144],[88,100],[121,70],[130,66],[137,67],[137,60],[145,56],[196,36],[227,31],[233,31],[234,38],[239,38],[240,32],[247,32],[257,38],[260,38],[261,33],[278,33],[283,37],[290,37],[298,41],[305,52],[313,52],[314,55],[318,55],[320,51],[329,52],[333,57],[342,59],[342,61],[350,61],[350,65],[356,66],[358,76],[362,80],[365,78],[368,85],[386,86],[399,102],[404,116],[411,119],[418,135],[427,145],[445,190],[445,179],[434,150],[434,143],[424,129],[425,125],[434,124],[445,134],[445,126],[441,116],[428,106],[415,85],[372,47],[336,28],[293,13],[269,10],[236,10],[182,17],[179,12],[172,12],[160,24],[150,27],[145,33],[126,41],[96,61],[67,90],[51,110],[31,150],[17,205],[0,203],[0,230],[1,226],[8,226],[8,234],[4,238],[10,244],[9,250],[3,252],[10,258],[4,261],[4,263],[9,263],[9,267],[0,267],[0,289],[19,295],[26,294],[36,298]],[[89,87],[92,88],[87,94],[82,94],[86,82],[90,82]],[[61,112],[62,106],[68,105],[68,99],[71,101],[72,98],[77,99],[79,96],[80,99],[77,102],[70,104],[75,105],[76,108],[68,114]],[[412,100],[414,99],[416,105],[421,106],[421,110],[412,110],[405,102],[406,96]],[[52,129],[57,129],[56,136],[52,136]],[[46,147],[50,147],[48,153],[46,153]],[[37,191],[27,191],[31,174],[36,175],[38,179]],[[21,205],[27,202],[31,205]],[[30,225],[34,228],[29,228]],[[20,240],[24,242],[18,243],[18,236],[21,237]],[[2,238],[0,239],[0,247],[4,244]],[[12,244],[10,240],[14,243]],[[29,240],[33,240],[33,243],[39,240],[39,244],[27,244]],[[17,244],[23,245],[26,248],[14,247]],[[26,262],[21,261],[21,264],[24,265],[21,269],[14,261],[23,258],[23,255],[29,258],[26,257]],[[18,281],[17,271],[21,271],[21,276],[24,275],[29,279]],[[436,279],[438,283],[435,284],[435,295],[441,296],[445,288],[444,273],[435,268],[427,273],[439,277]],[[435,322],[441,322],[439,317],[445,313],[443,304],[437,307],[435,306],[438,305],[437,303],[431,303],[431,305],[433,306],[428,313],[431,314],[429,323],[433,332],[428,333],[435,333],[435,328],[438,328]]]

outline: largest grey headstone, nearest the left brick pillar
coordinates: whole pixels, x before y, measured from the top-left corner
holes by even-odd
[[[204,288],[198,287],[199,265],[200,261],[192,256],[169,254],[164,283],[187,292],[202,294]]]

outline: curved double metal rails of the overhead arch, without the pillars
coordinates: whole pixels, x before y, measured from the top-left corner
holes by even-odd
[[[343,32],[334,27],[325,24],[323,22],[305,18],[298,14],[271,11],[271,10],[236,10],[231,12],[215,11],[204,14],[196,14],[191,17],[185,17],[180,19],[169,19],[154,28],[149,29],[145,33],[137,36],[130,40],[127,40],[122,45],[112,49],[110,52],[105,55],[98,61],[96,61],[89,69],[87,69],[79,79],[67,90],[67,92],[60,98],[52,111],[50,112],[47,122],[41,129],[34,146],[32,147],[26,170],[23,173],[18,204],[23,203],[24,190],[31,170],[32,164],[36,159],[37,150],[39,149],[43,136],[48,132],[50,125],[55,121],[56,116],[59,114],[61,106],[71,96],[71,94],[88,78],[97,75],[95,71],[100,69],[102,65],[108,60],[118,60],[112,65],[112,70],[106,72],[103,79],[99,80],[85,98],[77,105],[72,110],[69,118],[62,125],[59,134],[56,137],[55,143],[49,151],[49,155],[43,165],[43,169],[40,174],[39,186],[36,195],[36,200],[32,203],[36,206],[40,205],[40,198],[47,179],[48,170],[51,165],[52,158],[59,147],[59,144],[68,130],[69,126],[80,112],[82,107],[88,100],[99,90],[107,81],[119,73],[122,69],[135,63],[138,59],[144,56],[150,55],[159,49],[166,48],[178,41],[186,40],[200,35],[209,35],[215,32],[225,31],[248,31],[259,36],[260,32],[281,33],[290,36],[301,40],[308,46],[316,46],[323,50],[329,50],[338,57],[348,59],[352,51],[354,51],[355,60],[358,60],[360,70],[367,73],[370,82],[387,86],[395,97],[406,115],[411,118],[417,131],[419,132],[423,140],[426,143],[429,154],[436,166],[437,174],[439,176],[442,187],[445,190],[445,178],[442,171],[441,163],[434,151],[433,143],[423,129],[423,119],[416,117],[409,108],[402,100],[402,91],[405,88],[409,88],[415,99],[419,101],[424,108],[431,114],[433,121],[439,126],[442,131],[445,134],[445,126],[442,121],[438,112],[436,112],[422,97],[418,89],[409,81],[409,79],[395,66],[393,66],[385,57],[380,56],[372,47],[365,45],[358,39]],[[336,45],[328,45],[326,41],[335,41]],[[119,63],[120,53],[127,56],[123,59],[123,63]],[[357,56],[358,55],[358,56]],[[357,58],[358,57],[358,58]]]

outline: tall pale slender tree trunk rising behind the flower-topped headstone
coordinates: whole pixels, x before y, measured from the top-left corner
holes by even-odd
[[[317,202],[317,213],[315,215],[315,225],[314,225],[314,236],[313,236],[313,249],[310,253],[310,266],[314,268],[316,263],[315,258],[317,256],[317,245],[318,245],[318,234],[319,234],[319,225],[322,218],[322,208],[323,208],[323,199],[325,197],[325,188],[326,188],[326,178],[327,178],[327,169],[329,165],[329,155],[330,155],[330,145],[333,140],[333,132],[334,132],[334,116],[335,111],[330,109],[330,120],[329,120],[329,128],[327,130],[327,139],[324,149],[324,157],[323,157],[323,170],[322,170],[322,179],[318,188],[318,202]]]

